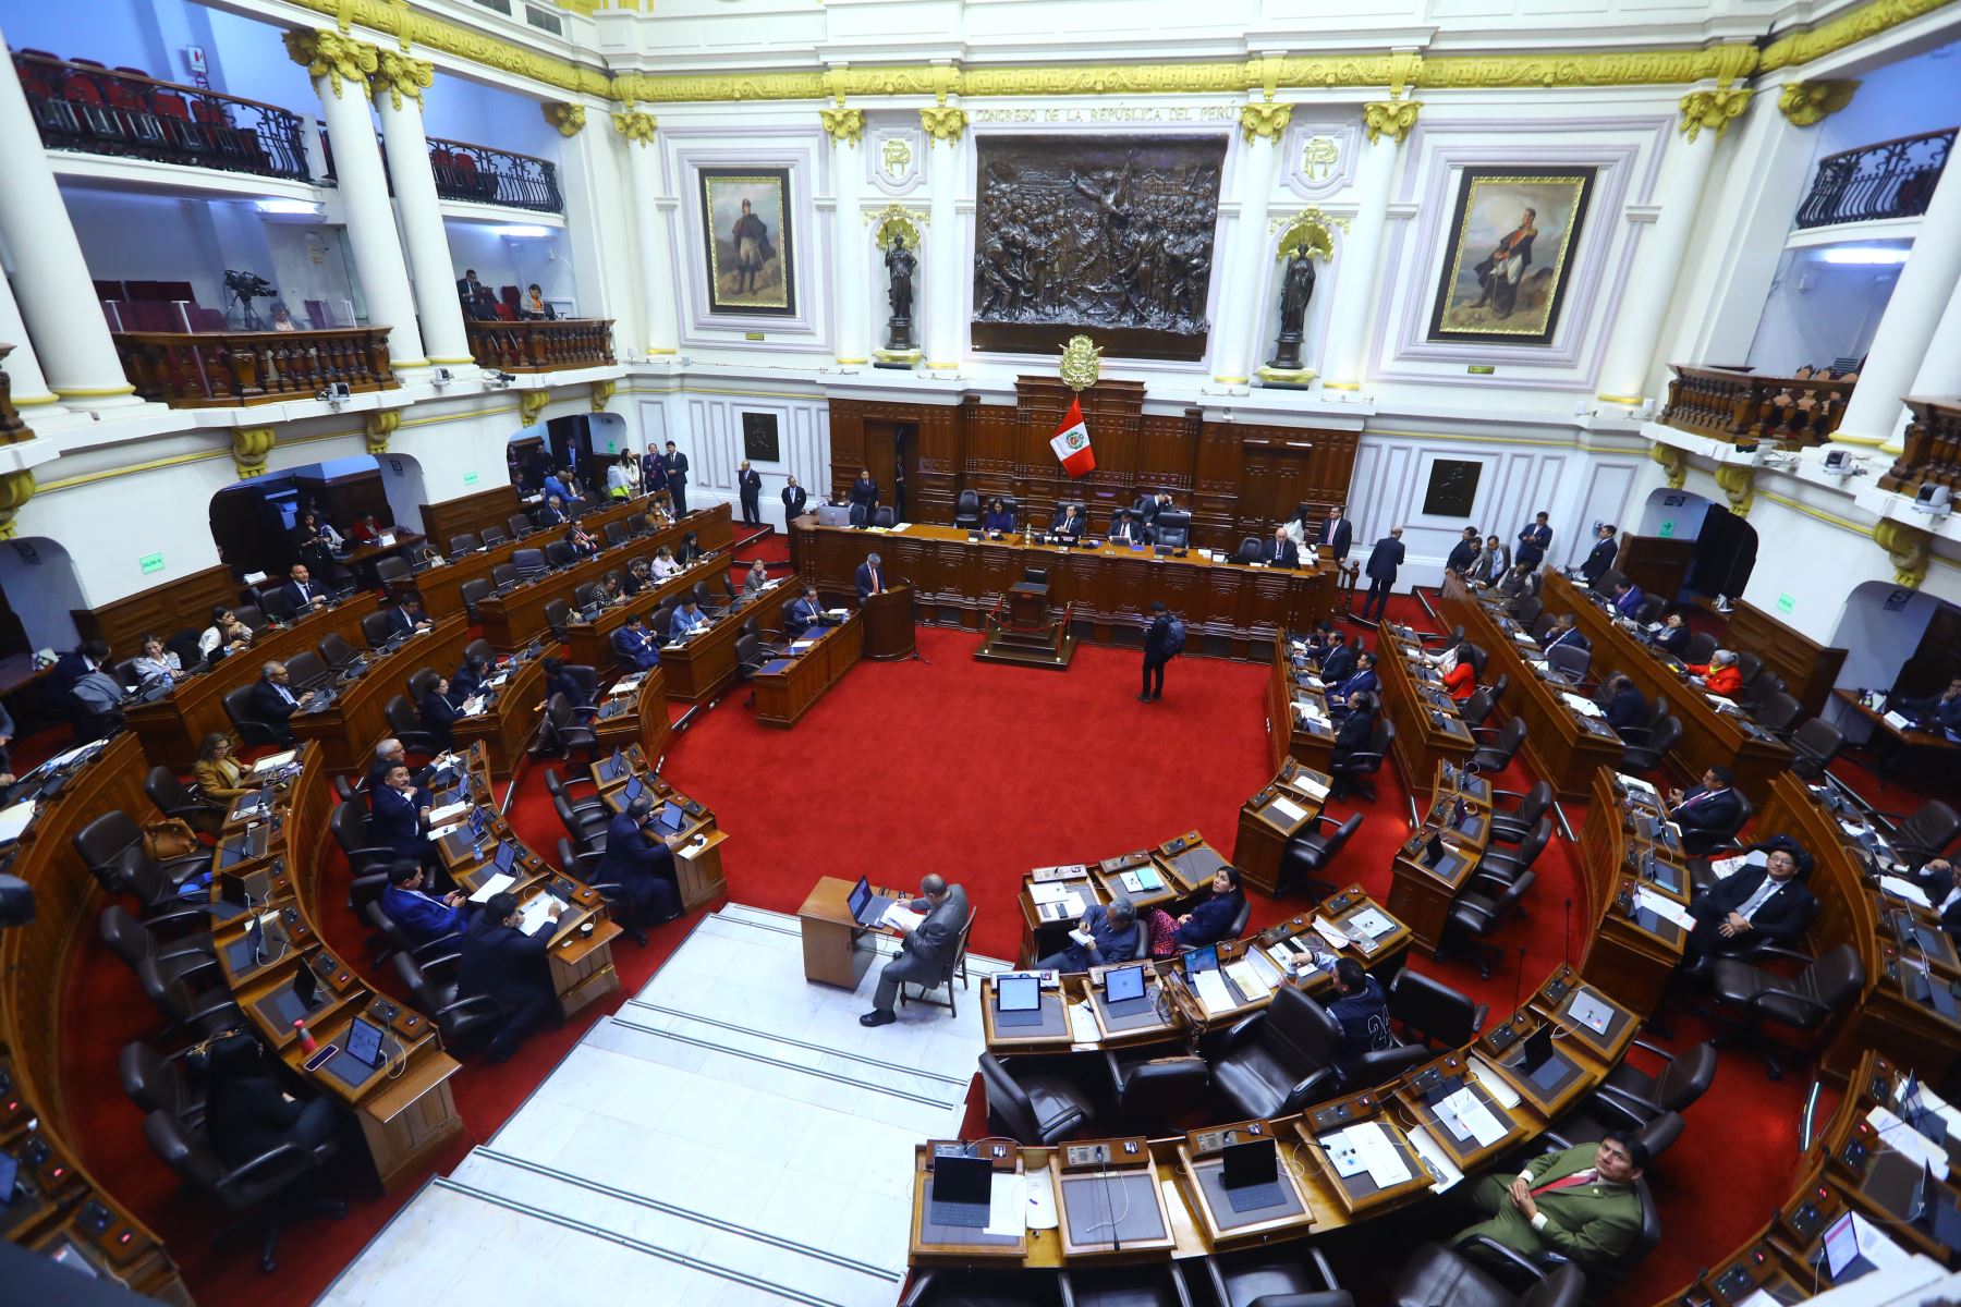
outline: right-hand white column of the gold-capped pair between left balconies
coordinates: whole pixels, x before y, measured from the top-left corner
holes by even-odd
[[[394,176],[394,206],[414,272],[422,345],[429,363],[475,364],[471,339],[463,329],[463,300],[457,298],[443,210],[435,196],[435,172],[429,169],[429,137],[422,129],[422,88],[435,80],[435,71],[422,59],[394,51],[380,51],[378,59],[380,67],[373,76],[375,110],[388,145],[388,172]],[[365,253],[357,249],[355,257],[363,259],[365,268]]]

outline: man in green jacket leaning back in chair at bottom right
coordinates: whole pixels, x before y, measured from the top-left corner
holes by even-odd
[[[1486,1234],[1528,1260],[1559,1252],[1581,1266],[1620,1256],[1641,1233],[1634,1182],[1645,1166],[1645,1144],[1610,1133],[1598,1146],[1541,1154],[1518,1176],[1484,1176],[1471,1187],[1471,1203],[1490,1219],[1457,1234],[1455,1244],[1477,1256],[1471,1240]]]

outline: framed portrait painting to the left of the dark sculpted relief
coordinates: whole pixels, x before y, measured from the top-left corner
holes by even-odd
[[[794,317],[788,169],[700,169],[708,312]]]

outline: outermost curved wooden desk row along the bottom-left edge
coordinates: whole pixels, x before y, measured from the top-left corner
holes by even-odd
[[[35,917],[0,931],[0,1150],[20,1164],[22,1186],[0,1207],[0,1233],[188,1307],[190,1293],[155,1233],[82,1164],[61,1078],[61,988],[76,943],[102,911],[102,892],[69,837],[116,807],[149,811],[147,766],[139,741],[118,735],[73,770],[14,847],[8,870],[33,888]]]

